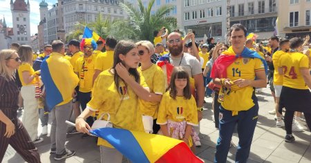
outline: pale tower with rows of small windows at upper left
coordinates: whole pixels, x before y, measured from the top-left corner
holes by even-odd
[[[30,44],[30,3],[24,0],[10,1],[12,12],[13,33],[12,41],[21,45]]]

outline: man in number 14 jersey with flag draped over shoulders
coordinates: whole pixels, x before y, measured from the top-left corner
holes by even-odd
[[[238,23],[229,31],[232,46],[216,59],[211,70],[214,84],[220,84],[219,138],[214,162],[226,162],[234,127],[238,126],[236,162],[247,162],[258,119],[255,88],[264,88],[267,63],[257,52],[245,48],[246,28]]]

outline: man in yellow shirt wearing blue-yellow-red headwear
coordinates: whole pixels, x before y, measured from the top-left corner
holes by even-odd
[[[95,56],[93,55],[93,50],[97,48],[97,44],[93,39],[83,39],[80,46],[82,51],[84,51],[84,55],[77,59],[74,70],[79,77],[77,97],[82,111],[84,111],[86,104],[91,100],[93,75],[95,73]],[[86,122],[92,126],[94,122],[93,117],[88,117]],[[88,137],[88,134],[84,133],[82,138],[86,137]]]

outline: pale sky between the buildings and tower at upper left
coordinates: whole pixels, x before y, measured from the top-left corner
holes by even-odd
[[[15,1],[15,0],[13,0]],[[27,0],[25,0],[27,3]],[[30,33],[35,35],[38,32],[37,26],[40,22],[39,3],[42,0],[29,0],[30,3]],[[57,0],[45,0],[48,3],[48,9],[52,8]],[[10,9],[10,0],[0,0],[0,19],[6,18],[6,25],[12,27],[12,13]]]

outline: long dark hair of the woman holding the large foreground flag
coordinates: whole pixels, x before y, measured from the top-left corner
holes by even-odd
[[[122,60],[120,59],[119,55],[126,55],[127,52],[131,51],[133,48],[136,48],[137,46],[133,41],[126,41],[126,40],[121,40],[117,43],[117,46],[115,46],[115,52],[113,54],[113,67],[115,69],[115,66],[119,64],[120,62],[122,63]],[[140,75],[137,71],[136,68],[129,68],[129,73],[135,77],[135,81],[139,82],[140,81]],[[114,75],[114,81],[115,81],[115,86],[117,88],[117,91],[120,93],[120,90],[118,89],[120,84],[119,84],[119,75],[117,75],[117,72],[115,71]],[[122,79],[123,80],[123,79]],[[125,83],[125,82],[124,82]]]

